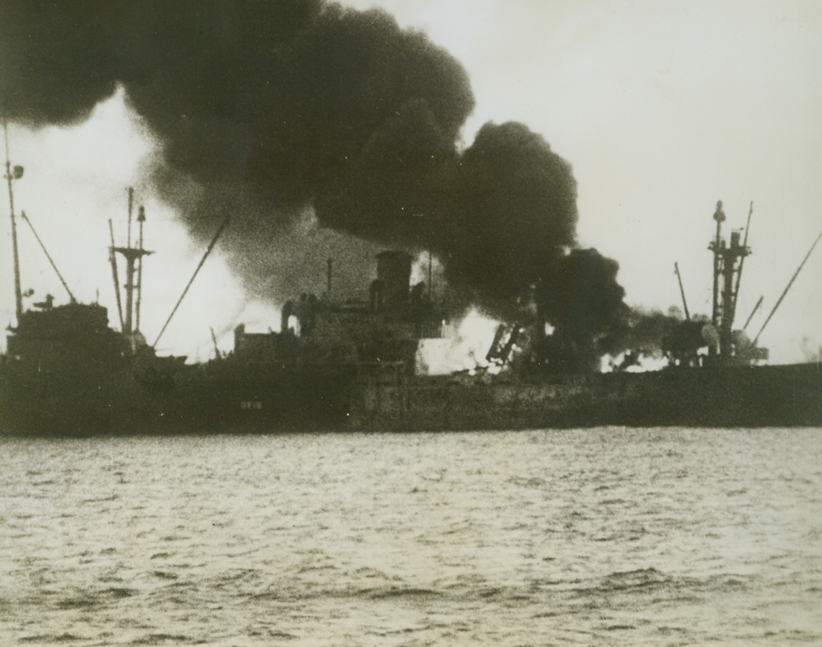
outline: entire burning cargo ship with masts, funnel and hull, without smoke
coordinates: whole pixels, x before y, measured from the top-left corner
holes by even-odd
[[[136,219],[139,237],[132,244],[131,191],[127,245],[117,246],[111,231],[120,330],[109,326],[106,307],[78,303],[58,271],[69,302],[55,305],[49,295],[24,311],[12,196],[12,179],[21,175],[22,169],[7,160],[16,326],[9,327],[7,353],[0,358],[3,433],[822,425],[819,364],[760,365],[767,351],[757,346],[759,335],[750,340],[734,329],[750,248],[747,228],[744,240],[740,231],[723,238],[721,202],[709,245],[712,317],[691,319],[683,292],[686,319],[666,340],[668,367],[580,371],[561,354],[544,352],[555,340],[539,317],[531,317],[496,331],[487,360],[497,369],[510,364],[507,370],[431,376],[415,370],[418,347],[421,340],[442,335],[446,311],[432,298],[430,269],[428,286],[411,284],[413,257],[404,251],[377,256],[367,300],[333,298],[329,261],[326,293],[303,293],[284,303],[279,332],[251,333],[240,325],[234,330],[233,351],[221,354],[215,342],[215,358],[207,363],[158,356],[140,330],[142,262],[152,252],[143,247],[142,208]],[[42,246],[25,213],[21,218]],[[117,256],[126,267],[124,308]],[[196,271],[192,281],[195,277]],[[515,366],[511,357],[524,345],[523,337],[531,340],[531,349]],[[630,357],[626,354],[622,367]]]

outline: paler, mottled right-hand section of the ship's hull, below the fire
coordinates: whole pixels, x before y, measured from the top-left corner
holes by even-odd
[[[822,367],[799,364],[597,374],[542,381],[370,385],[353,424],[372,429],[822,427]]]

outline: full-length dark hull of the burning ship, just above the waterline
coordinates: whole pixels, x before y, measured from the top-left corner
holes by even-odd
[[[4,366],[0,432],[446,431],[540,427],[822,427],[822,367],[801,364],[543,380],[409,377],[335,367],[182,367],[42,375]]]

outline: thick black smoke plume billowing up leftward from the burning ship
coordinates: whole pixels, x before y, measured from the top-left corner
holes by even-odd
[[[161,143],[155,186],[198,238],[233,215],[225,243],[259,296],[291,296],[326,254],[364,283],[392,246],[432,250],[452,291],[496,316],[538,286],[575,347],[620,307],[614,261],[567,256],[570,165],[514,122],[463,150],[467,73],[385,12],[3,0],[0,60],[2,114],[33,126],[80,122],[122,86]]]

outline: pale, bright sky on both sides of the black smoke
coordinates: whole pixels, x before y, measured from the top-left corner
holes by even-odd
[[[755,334],[822,230],[822,5],[818,2],[552,2],[551,0],[349,0],[384,8],[422,30],[469,74],[476,107],[464,146],[487,121],[524,122],[573,167],[583,247],[620,264],[633,306],[681,305],[710,314],[716,201],[727,228],[753,216],[739,297],[741,325],[760,295]],[[113,219],[127,229],[126,187],[145,204],[142,330],[152,343],[204,247],[145,183],[157,146],[126,108],[122,90],[71,128],[9,127],[12,164],[25,166],[15,203],[38,229],[81,301],[109,307]],[[4,211],[7,212],[7,209]],[[2,220],[0,319],[14,312],[8,218]],[[23,289],[62,288],[28,227],[18,222]],[[727,231],[727,229],[726,229]],[[136,229],[135,229],[136,232]],[[316,270],[324,275],[324,262]],[[363,284],[372,277],[364,277]],[[774,363],[801,361],[822,344],[822,249],[810,257],[760,343]],[[210,354],[209,328],[230,348],[245,321],[277,328],[275,304],[250,302],[219,244],[158,349]]]

